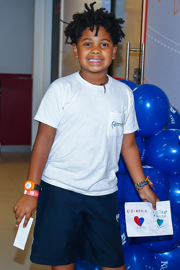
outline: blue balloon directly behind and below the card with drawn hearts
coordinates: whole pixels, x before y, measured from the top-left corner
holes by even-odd
[[[173,235],[137,237],[139,243],[154,253],[165,253],[180,243],[180,217],[171,211]]]

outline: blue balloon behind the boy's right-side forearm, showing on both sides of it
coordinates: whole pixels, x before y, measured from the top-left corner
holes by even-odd
[[[145,155],[145,143],[143,141],[143,138],[139,135],[138,132],[135,132],[135,138],[136,138],[136,143],[137,143],[140,157],[141,157],[141,162],[143,162],[144,155]],[[119,166],[119,170],[117,174],[127,174],[128,170],[127,170],[127,167],[126,167],[126,164],[122,155],[120,155],[118,166]]]

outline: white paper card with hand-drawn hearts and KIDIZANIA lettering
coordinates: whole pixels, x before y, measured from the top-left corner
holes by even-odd
[[[158,201],[156,208],[149,202],[126,202],[127,236],[172,235],[170,201]]]

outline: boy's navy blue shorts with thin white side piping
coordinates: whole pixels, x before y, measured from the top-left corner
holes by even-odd
[[[102,267],[124,265],[116,192],[88,196],[41,181],[30,260],[67,265],[85,260]]]

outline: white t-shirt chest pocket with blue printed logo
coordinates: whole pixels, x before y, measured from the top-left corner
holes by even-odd
[[[117,137],[123,135],[125,114],[110,111],[107,136]]]

